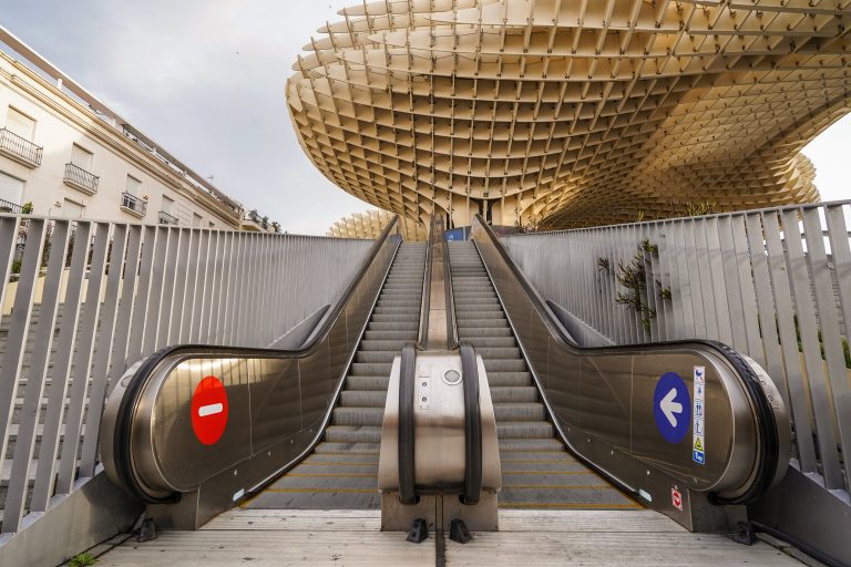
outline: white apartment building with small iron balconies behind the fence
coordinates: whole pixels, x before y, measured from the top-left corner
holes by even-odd
[[[0,42],[0,212],[31,204],[33,215],[259,229],[2,27]]]

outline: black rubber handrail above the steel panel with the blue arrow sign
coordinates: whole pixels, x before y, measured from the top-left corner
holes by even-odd
[[[736,350],[727,347],[726,344],[706,340],[706,339],[690,339],[690,340],[677,340],[677,341],[660,341],[652,344],[624,344],[624,346],[611,346],[611,347],[581,347],[576,344],[570,334],[563,329],[562,324],[557,321],[551,309],[544,303],[539,292],[532,287],[526,279],[525,275],[516,267],[514,261],[509,256],[505,248],[500,243],[499,237],[491,229],[491,227],[484,221],[481,215],[475,215],[473,219],[473,227],[479,225],[488,235],[491,243],[494,245],[500,257],[505,261],[506,266],[511,269],[512,275],[515,277],[523,291],[526,293],[529,300],[535,307],[540,317],[546,324],[551,334],[561,343],[561,346],[578,355],[592,354],[592,355],[605,355],[607,353],[628,354],[634,351],[646,352],[648,347],[664,347],[664,348],[683,348],[683,347],[700,347],[715,351],[724,360],[726,360],[736,371],[739,377],[745,391],[747,392],[750,401],[753,403],[753,409],[757,413],[757,434],[759,436],[760,446],[762,450],[759,452],[759,462],[757,464],[756,481],[751,483],[748,491],[736,498],[721,498],[719,496],[711,496],[717,504],[748,504],[759,499],[772,485],[776,472],[778,468],[778,455],[780,454],[780,434],[778,431],[777,421],[771,409],[771,403],[768,400],[766,392],[760,385],[759,377],[751,368],[751,365],[745,360],[745,358]],[[472,227],[471,227],[472,230]]]

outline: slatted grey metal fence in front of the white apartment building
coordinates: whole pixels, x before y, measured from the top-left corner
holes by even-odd
[[[111,381],[178,343],[266,347],[372,243],[0,216],[0,532],[98,465]]]

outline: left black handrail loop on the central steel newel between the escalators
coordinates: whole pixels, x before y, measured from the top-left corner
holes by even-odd
[[[399,372],[399,499],[402,504],[417,504],[418,501],[413,431],[416,373],[417,349],[412,343],[407,343],[402,347]]]

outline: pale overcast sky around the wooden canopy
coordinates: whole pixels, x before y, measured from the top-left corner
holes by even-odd
[[[285,84],[355,0],[0,0],[0,23],[162,147],[285,230],[371,208],[296,141]],[[851,116],[808,146],[826,200],[851,198]]]

